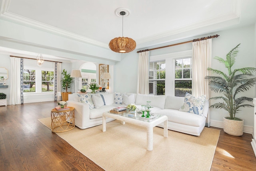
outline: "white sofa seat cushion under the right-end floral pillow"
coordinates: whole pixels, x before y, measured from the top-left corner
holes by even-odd
[[[190,125],[190,126],[202,126],[205,123],[206,118],[204,116],[196,115],[189,112],[182,112],[175,109],[163,109],[159,110],[157,114],[166,115],[168,121],[178,124]]]

